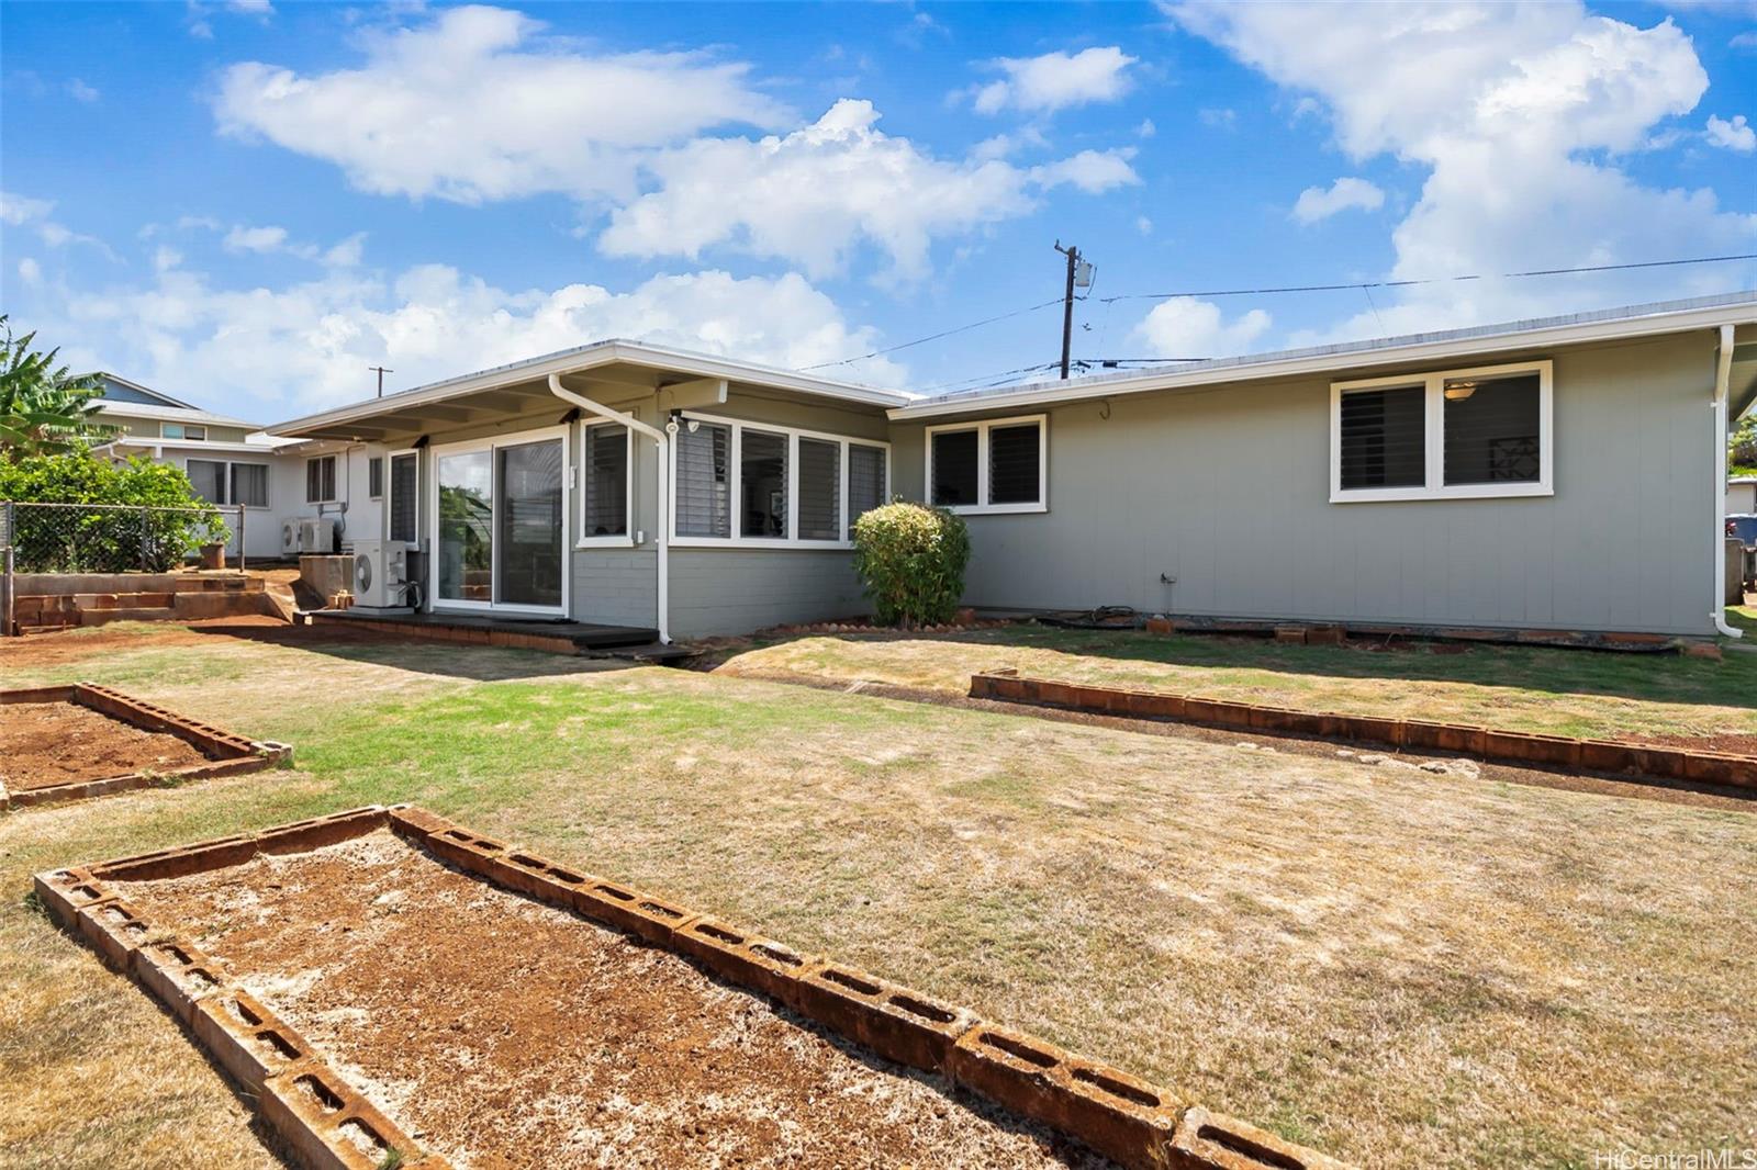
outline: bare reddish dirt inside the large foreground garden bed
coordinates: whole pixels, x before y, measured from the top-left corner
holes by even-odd
[[[1103,1165],[385,831],[116,885],[460,1166]]]

